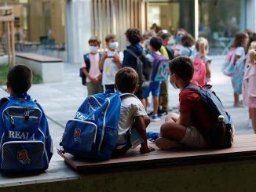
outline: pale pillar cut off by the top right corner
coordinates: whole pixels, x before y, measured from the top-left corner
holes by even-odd
[[[256,0],[247,0],[247,28],[256,31]]]

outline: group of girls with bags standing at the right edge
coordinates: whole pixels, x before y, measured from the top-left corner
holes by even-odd
[[[256,132],[256,33],[236,33],[232,49],[227,55],[223,72],[232,78],[234,107],[249,107],[248,127]],[[243,101],[240,101],[243,94]]]

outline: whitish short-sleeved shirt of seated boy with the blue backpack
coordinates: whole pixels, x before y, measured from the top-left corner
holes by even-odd
[[[124,96],[121,101],[121,111],[118,125],[117,144],[126,142],[126,134],[133,126],[134,118],[147,115],[141,100],[136,96]]]

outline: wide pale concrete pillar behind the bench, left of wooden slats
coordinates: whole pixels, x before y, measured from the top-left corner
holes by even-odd
[[[82,55],[89,51],[90,0],[67,0],[66,11],[68,62],[81,63]]]

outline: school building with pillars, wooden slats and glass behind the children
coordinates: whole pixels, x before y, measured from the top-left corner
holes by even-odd
[[[225,54],[236,31],[256,30],[256,0],[0,0],[0,5],[13,7],[17,52],[70,63],[81,62],[90,36],[104,40],[117,34],[124,49],[128,27],[146,31],[157,24],[171,33],[182,27],[195,38],[208,38],[212,55]],[[5,31],[2,23],[0,52],[5,52]]]

